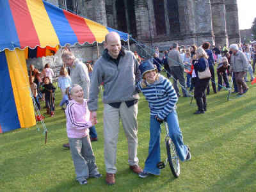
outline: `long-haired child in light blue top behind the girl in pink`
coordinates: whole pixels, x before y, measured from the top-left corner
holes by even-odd
[[[61,90],[62,98],[65,95],[66,89],[71,86],[71,78],[68,76],[68,71],[66,67],[61,67],[60,77],[58,77],[58,86]]]

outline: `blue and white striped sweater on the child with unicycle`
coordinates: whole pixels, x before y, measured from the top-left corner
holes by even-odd
[[[137,87],[148,101],[150,115],[157,115],[163,120],[173,109],[176,109],[176,103],[178,101],[172,83],[160,74],[159,79],[155,81],[155,83],[147,83],[145,88],[141,86],[142,81],[141,79]]]

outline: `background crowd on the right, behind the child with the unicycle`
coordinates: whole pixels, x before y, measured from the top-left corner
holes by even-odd
[[[158,47],[156,52],[159,52]],[[225,45],[221,48],[214,45],[211,47],[209,42],[204,42],[200,47],[191,45],[181,49],[177,43],[174,43],[169,51],[164,51],[163,58],[160,59],[157,55],[159,54],[154,54],[153,63],[159,72],[163,66],[166,76],[173,79],[173,86],[178,97],[180,97],[178,81],[183,97],[191,97],[195,88],[194,97],[198,106],[195,114],[207,111],[205,95],[210,93],[210,84],[212,84],[212,91],[218,93],[230,88],[229,79],[232,78],[234,85],[232,93],[240,96],[248,91],[245,83],[249,81],[248,72],[250,81],[254,79],[256,44],[232,44],[230,47]],[[216,65],[215,68],[214,65]],[[198,77],[198,71],[204,72],[208,69],[211,76],[204,79]],[[186,74],[186,83],[184,74]],[[215,74],[218,76],[218,82],[215,81]]]

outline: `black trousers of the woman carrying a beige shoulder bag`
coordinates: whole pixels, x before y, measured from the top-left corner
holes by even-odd
[[[196,78],[194,97],[196,100],[198,111],[206,111],[207,102],[206,102],[205,90],[207,86],[209,86],[209,78],[207,79]]]

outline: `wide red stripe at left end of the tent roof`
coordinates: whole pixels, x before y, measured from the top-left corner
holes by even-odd
[[[23,49],[26,46],[35,47],[35,45],[40,45],[26,1],[9,0],[9,3],[20,40],[20,48]],[[31,36],[33,36],[33,38],[31,38]]]

